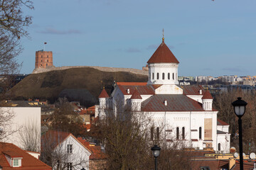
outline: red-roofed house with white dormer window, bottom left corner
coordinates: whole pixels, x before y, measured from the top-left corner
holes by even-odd
[[[0,142],[0,165],[1,169],[52,169],[23,149],[5,142]]]

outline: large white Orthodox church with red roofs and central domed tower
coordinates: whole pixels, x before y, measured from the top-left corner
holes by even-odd
[[[213,97],[202,86],[178,84],[178,60],[162,38],[161,45],[147,62],[147,82],[117,82],[109,96],[102,90],[99,116],[107,111],[117,114],[133,111],[151,115],[154,131],[164,126],[166,142],[183,140],[188,147],[213,147],[216,152],[229,152],[229,125],[218,120]],[[151,131],[152,131],[151,128]]]

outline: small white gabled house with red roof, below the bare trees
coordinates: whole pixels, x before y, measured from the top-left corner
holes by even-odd
[[[69,132],[48,130],[41,137],[41,160],[53,169],[89,169],[90,149]]]

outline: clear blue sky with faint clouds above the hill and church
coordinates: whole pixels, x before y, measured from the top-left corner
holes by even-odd
[[[142,69],[161,44],[180,62],[178,76],[256,75],[255,0],[34,0],[22,74],[37,50],[53,64]],[[85,73],[86,74],[86,73]]]

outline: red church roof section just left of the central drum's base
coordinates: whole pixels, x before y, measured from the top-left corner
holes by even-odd
[[[146,83],[133,83],[133,84],[127,84],[127,83],[117,83],[117,86],[122,91],[122,94],[124,95],[132,95],[137,89],[140,95],[153,95],[154,89],[151,86],[147,86]],[[129,89],[129,94],[127,93],[127,89]]]

